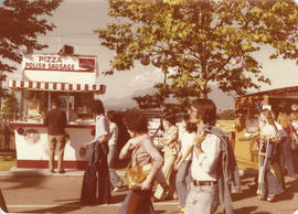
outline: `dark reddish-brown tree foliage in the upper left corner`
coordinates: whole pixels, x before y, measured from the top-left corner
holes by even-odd
[[[55,25],[44,17],[61,4],[62,0],[4,0],[0,7],[0,83],[6,73],[17,69],[12,63],[21,63],[24,51],[41,51],[46,44],[38,42],[39,35],[52,31]],[[0,99],[7,96],[0,84]],[[1,104],[1,103],[0,103]]]

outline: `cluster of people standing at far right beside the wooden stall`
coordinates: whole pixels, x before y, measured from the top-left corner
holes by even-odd
[[[264,106],[259,114],[257,195],[269,202],[285,191],[285,176],[298,174],[298,105],[292,104],[290,111],[284,110],[285,101],[278,107],[274,114],[270,106]]]

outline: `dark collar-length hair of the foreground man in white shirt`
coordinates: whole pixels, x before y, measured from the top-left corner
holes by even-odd
[[[205,125],[215,125],[216,106],[211,99],[198,98],[192,101],[191,106],[193,106],[198,110],[198,114],[202,117],[202,120]]]

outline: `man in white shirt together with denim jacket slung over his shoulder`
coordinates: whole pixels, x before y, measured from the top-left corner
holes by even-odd
[[[195,126],[192,152],[192,183],[185,203],[185,214],[212,214],[219,204],[223,213],[233,213],[231,192],[241,192],[238,169],[226,135],[215,128],[216,106],[211,99],[195,99],[189,110]]]

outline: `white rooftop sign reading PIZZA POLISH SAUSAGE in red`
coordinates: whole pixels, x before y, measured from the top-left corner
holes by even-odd
[[[97,56],[25,54],[22,61],[24,81],[96,84],[98,79]]]

